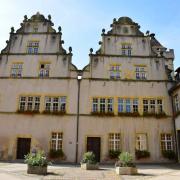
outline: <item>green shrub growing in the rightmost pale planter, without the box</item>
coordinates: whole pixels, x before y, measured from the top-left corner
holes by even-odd
[[[135,165],[132,162],[133,157],[132,154],[128,152],[122,152],[119,155],[119,161],[115,164],[115,166],[120,166],[120,167],[135,167]]]

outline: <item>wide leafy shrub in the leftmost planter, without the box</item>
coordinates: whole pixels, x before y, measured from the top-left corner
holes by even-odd
[[[43,151],[37,153],[29,153],[25,156],[25,163],[31,166],[47,166],[49,161],[47,160]]]

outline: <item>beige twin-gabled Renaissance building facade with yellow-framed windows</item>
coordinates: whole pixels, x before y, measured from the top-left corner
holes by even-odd
[[[38,149],[63,151],[63,162],[80,162],[86,151],[99,162],[122,151],[136,162],[169,162],[163,152],[178,154],[173,50],[128,17],[101,35],[100,48],[91,48],[89,64],[78,70],[50,15],[24,16],[18,30],[11,28],[0,55],[1,160]],[[142,151],[148,157],[137,158]]]

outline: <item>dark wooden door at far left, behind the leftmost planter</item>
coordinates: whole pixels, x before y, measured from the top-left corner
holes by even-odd
[[[31,138],[17,139],[17,159],[24,159],[24,156],[30,152]]]

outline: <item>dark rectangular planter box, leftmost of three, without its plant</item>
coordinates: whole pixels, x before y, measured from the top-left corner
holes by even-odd
[[[27,173],[28,174],[46,175],[47,174],[47,166],[31,166],[31,165],[28,165]]]

